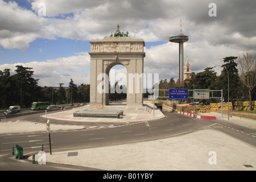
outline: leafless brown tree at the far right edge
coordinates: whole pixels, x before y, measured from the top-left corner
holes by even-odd
[[[240,78],[249,89],[250,110],[253,110],[251,90],[256,86],[256,60],[251,56],[250,52],[246,51],[239,56],[238,63],[240,68]]]

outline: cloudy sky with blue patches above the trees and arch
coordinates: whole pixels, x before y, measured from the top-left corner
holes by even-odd
[[[255,17],[251,0],[0,0],[0,70],[32,67],[40,86],[67,86],[71,78],[89,84],[89,41],[109,36],[119,23],[132,39],[145,41],[144,72],[176,81],[179,46],[168,38],[180,34],[180,19],[189,36],[184,64],[188,57],[198,73],[222,65],[226,56],[256,55]]]

